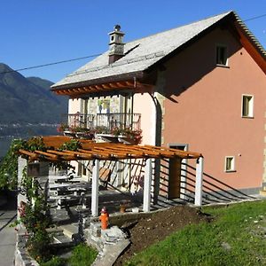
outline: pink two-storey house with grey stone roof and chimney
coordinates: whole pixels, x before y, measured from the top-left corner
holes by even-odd
[[[207,191],[259,192],[266,185],[266,51],[238,14],[129,43],[118,25],[109,35],[109,51],[51,87],[69,96],[68,118],[141,128],[145,145],[200,151]],[[185,159],[155,172],[159,194],[177,198],[188,189]],[[184,186],[170,185],[176,173]]]

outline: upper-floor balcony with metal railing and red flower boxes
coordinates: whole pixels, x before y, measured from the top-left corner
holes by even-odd
[[[66,136],[95,138],[111,142],[141,140],[140,113],[70,113],[63,115],[59,131]]]

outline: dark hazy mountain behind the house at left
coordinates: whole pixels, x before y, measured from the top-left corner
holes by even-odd
[[[50,91],[53,83],[24,77],[0,63],[0,124],[59,123],[67,113],[67,98]]]

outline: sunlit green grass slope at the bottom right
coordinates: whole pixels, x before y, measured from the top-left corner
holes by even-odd
[[[266,265],[266,200],[203,211],[214,222],[186,226],[127,265]]]

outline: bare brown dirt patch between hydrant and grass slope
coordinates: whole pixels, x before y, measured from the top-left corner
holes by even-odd
[[[210,217],[202,214],[195,208],[187,206],[170,207],[154,213],[149,218],[143,218],[125,229],[129,234],[131,245],[121,254],[114,265],[122,265],[133,254],[165,239],[168,235],[180,230],[185,225],[202,221],[208,222]]]

